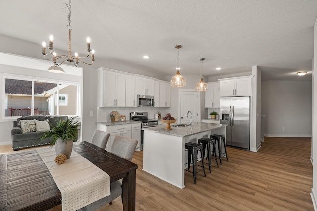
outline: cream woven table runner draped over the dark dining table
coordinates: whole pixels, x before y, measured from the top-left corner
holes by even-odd
[[[62,195],[62,210],[74,211],[110,195],[109,175],[75,151],[61,165],[55,147],[36,149]]]

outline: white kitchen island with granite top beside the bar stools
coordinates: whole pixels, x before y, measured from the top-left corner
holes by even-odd
[[[198,139],[209,138],[212,134],[225,136],[227,125],[194,122],[191,127],[172,126],[172,130],[165,130],[165,126],[143,129],[143,170],[176,187],[184,188],[184,169],[187,163],[185,143],[197,143]]]

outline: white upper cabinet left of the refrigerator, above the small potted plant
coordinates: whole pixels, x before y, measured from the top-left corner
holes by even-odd
[[[220,82],[207,83],[208,90],[205,92],[205,107],[220,107]]]

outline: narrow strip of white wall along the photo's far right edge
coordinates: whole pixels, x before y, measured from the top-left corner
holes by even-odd
[[[314,58],[313,58],[313,117],[312,117],[313,125],[316,127],[317,125],[317,20],[314,25]],[[312,164],[313,164],[313,187],[311,192],[311,197],[314,205],[314,210],[317,210],[317,130],[312,131]]]

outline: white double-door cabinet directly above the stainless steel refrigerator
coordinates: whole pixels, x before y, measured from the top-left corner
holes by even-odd
[[[219,79],[220,96],[250,96],[252,76]]]

